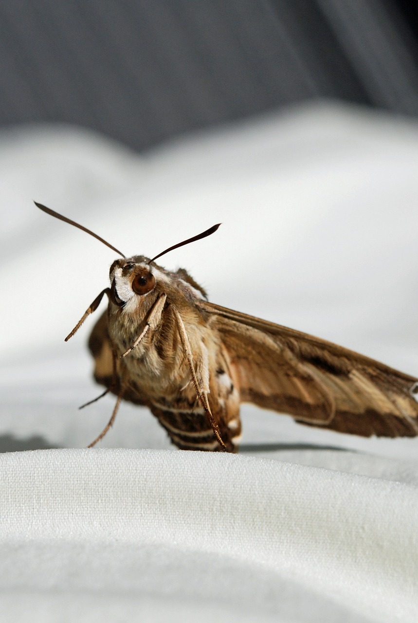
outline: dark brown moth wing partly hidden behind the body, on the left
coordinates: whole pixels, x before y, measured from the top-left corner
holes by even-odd
[[[120,364],[116,361],[116,374],[113,372],[113,351],[108,332],[107,312],[104,312],[93,326],[88,348],[94,359],[93,376],[97,383],[109,388],[116,396],[120,393]],[[125,388],[123,399],[135,404],[147,404],[138,391],[133,388]]]

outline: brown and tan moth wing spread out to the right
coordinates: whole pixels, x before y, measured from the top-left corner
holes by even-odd
[[[285,326],[196,305],[229,352],[242,402],[364,437],[418,434],[416,378]]]

